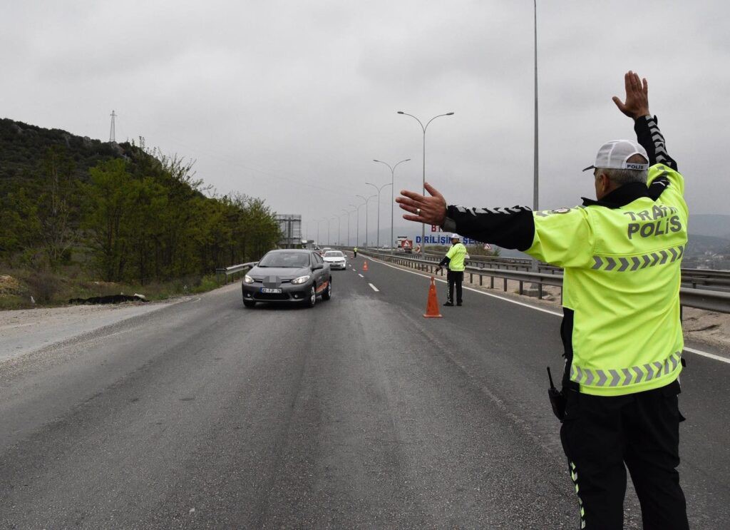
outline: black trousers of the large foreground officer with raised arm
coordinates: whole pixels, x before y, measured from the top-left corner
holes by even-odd
[[[566,391],[560,435],[580,504],[580,528],[623,529],[626,468],[644,530],[688,530],[677,466],[678,381],[627,396]]]

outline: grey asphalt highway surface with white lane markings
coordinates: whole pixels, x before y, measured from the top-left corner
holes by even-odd
[[[426,277],[352,263],[312,310],[232,285],[0,364],[0,528],[577,528],[558,316],[425,319]],[[730,528],[730,365],[687,358],[691,526]]]

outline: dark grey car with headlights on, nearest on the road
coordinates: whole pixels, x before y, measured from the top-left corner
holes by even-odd
[[[329,264],[314,250],[271,250],[243,277],[243,304],[295,302],[314,307],[332,296]]]

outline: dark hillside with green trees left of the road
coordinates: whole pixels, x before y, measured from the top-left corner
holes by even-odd
[[[0,120],[0,270],[199,279],[259,258],[279,237],[263,200],[212,195],[192,162],[142,139],[117,145]]]

